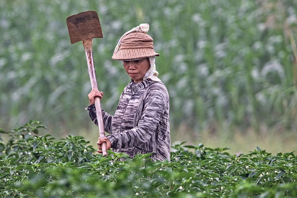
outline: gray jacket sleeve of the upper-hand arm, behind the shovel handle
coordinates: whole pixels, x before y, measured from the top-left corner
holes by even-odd
[[[91,120],[98,126],[95,104],[89,105],[86,109],[89,111],[89,116]],[[112,134],[111,123],[112,123],[113,116],[109,115],[102,109],[102,118],[103,118],[104,130],[109,134]]]

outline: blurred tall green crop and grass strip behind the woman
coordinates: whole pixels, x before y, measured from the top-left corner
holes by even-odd
[[[126,31],[149,23],[170,95],[171,142],[230,147],[230,153],[297,149],[297,1],[1,0],[0,127],[42,121],[54,137],[98,128],[84,110],[91,90],[81,43],[66,18],[96,10],[93,40],[102,108],[113,114],[129,82],[111,59]]]

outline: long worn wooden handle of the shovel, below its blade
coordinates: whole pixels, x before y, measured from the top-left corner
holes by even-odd
[[[98,90],[94,61],[93,61],[93,54],[92,54],[92,40],[83,41],[83,47],[86,52],[86,58],[87,58],[87,63],[89,68],[89,76],[91,80],[92,89]],[[97,121],[98,121],[98,127],[99,127],[99,136],[103,138],[105,137],[105,131],[104,131],[102,109],[101,109],[99,97],[95,98],[95,108],[96,108],[96,115],[97,115]],[[107,155],[105,142],[102,143],[102,154],[103,156]]]

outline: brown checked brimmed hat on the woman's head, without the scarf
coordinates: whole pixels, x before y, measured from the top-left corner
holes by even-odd
[[[114,60],[134,60],[159,56],[154,51],[153,39],[142,32],[132,32],[122,38],[119,51],[113,54]]]

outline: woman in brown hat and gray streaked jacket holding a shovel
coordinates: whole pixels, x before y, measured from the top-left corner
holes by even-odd
[[[121,60],[131,81],[121,93],[115,114],[102,110],[105,131],[110,135],[99,138],[101,144],[114,152],[124,152],[133,158],[137,153],[153,153],[152,160],[170,161],[169,96],[157,77],[153,39],[146,34],[149,24],[140,24],[119,40],[112,59]],[[94,98],[103,93],[93,89],[89,97],[89,115],[98,125]]]

